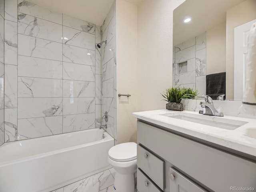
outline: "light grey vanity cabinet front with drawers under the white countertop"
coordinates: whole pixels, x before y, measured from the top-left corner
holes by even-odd
[[[137,129],[138,192],[230,192],[240,187],[256,191],[254,160],[148,122],[138,121]],[[156,159],[145,162],[145,153]],[[156,167],[158,170],[152,172]],[[159,182],[161,173],[163,188]],[[146,187],[145,182],[154,190]]]

